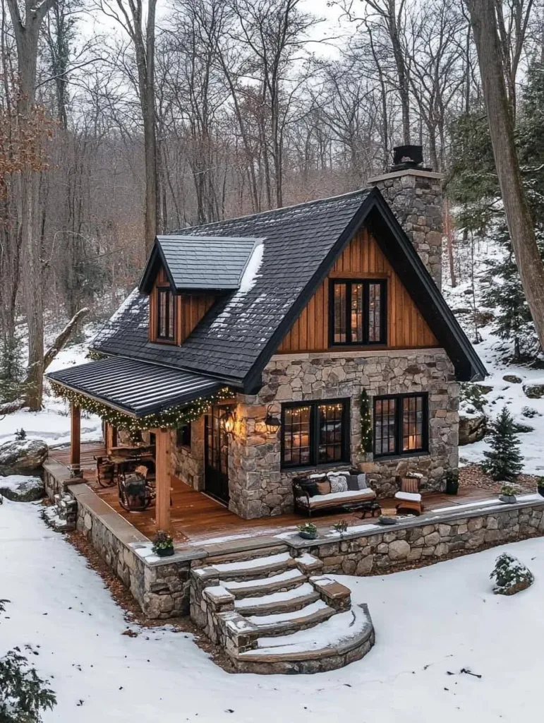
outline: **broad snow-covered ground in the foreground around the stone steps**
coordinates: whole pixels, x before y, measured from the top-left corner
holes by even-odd
[[[540,714],[543,539],[384,577],[342,576],[374,620],[376,646],[363,660],[318,675],[232,675],[167,626],[122,636],[123,612],[103,582],[38,515],[36,505],[0,507],[0,598],[12,601],[0,655],[40,646],[30,657],[59,698],[44,723],[513,723]],[[488,578],[504,550],[536,578],[512,597],[494,596]]]

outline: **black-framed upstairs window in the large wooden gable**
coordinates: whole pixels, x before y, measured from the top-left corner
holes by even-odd
[[[329,290],[331,346],[387,343],[386,299],[384,280],[332,280]]]

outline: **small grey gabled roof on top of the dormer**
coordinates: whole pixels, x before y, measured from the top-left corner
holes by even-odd
[[[176,291],[236,290],[260,243],[262,239],[247,236],[157,236],[139,290],[150,293],[159,263]]]

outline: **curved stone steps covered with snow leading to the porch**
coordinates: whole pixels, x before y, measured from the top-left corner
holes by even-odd
[[[314,673],[374,645],[366,605],[321,575],[323,563],[286,545],[208,558],[191,570],[191,618],[240,672]]]

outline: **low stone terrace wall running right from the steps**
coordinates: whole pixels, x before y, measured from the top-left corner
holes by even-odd
[[[512,509],[511,507],[514,507]],[[464,515],[464,516],[463,516]],[[382,528],[384,529],[384,528]],[[324,573],[379,575],[436,562],[447,555],[477,552],[506,542],[544,534],[544,503],[493,508],[473,513],[459,511],[443,521],[411,520],[387,531],[347,533],[344,539],[304,547],[324,563]]]

